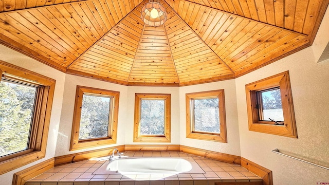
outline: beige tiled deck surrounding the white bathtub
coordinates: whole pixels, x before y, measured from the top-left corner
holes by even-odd
[[[216,182],[262,182],[262,178],[240,165],[181,152],[123,152],[129,157],[181,157],[193,169],[180,174],[120,174],[105,169],[108,157],[54,167],[26,185],[214,185]],[[120,159],[118,159],[120,160]],[[195,168],[198,165],[198,169]]]

